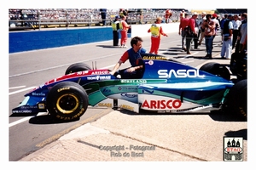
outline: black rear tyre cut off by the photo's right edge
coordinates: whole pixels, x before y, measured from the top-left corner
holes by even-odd
[[[247,79],[236,82],[230,88],[222,106],[224,112],[247,119]]]

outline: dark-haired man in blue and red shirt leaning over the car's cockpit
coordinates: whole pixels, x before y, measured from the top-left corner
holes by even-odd
[[[114,65],[110,74],[118,78],[142,78],[143,77],[143,59],[141,54],[147,51],[143,48],[143,39],[141,37],[131,38],[131,48],[125,51],[118,63]],[[117,71],[126,60],[130,61],[131,67]]]

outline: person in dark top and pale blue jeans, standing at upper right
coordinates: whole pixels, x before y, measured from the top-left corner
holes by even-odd
[[[223,44],[220,52],[220,56],[222,59],[230,59],[231,51],[232,51],[232,39],[233,39],[233,16],[231,14],[228,15],[227,20],[224,22],[224,30],[223,30]]]

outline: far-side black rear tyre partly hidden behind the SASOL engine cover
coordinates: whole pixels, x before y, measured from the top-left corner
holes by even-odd
[[[226,80],[230,80],[230,71],[224,65],[219,63],[210,62],[205,65],[202,65],[200,68],[201,71],[207,71],[218,77],[223,77]]]

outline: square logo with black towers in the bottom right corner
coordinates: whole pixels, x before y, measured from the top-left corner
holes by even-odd
[[[242,141],[242,137],[224,137],[224,161],[243,161]]]

